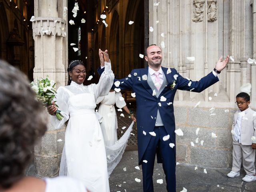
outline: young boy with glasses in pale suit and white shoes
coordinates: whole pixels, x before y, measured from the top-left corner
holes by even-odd
[[[250,96],[241,92],[236,96],[239,110],[234,114],[232,124],[233,137],[233,164],[232,170],[227,174],[234,178],[240,176],[241,162],[246,172],[243,181],[256,181],[255,176],[255,150],[256,149],[256,112],[249,107]]]

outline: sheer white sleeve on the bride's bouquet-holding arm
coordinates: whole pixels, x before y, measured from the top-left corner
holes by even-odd
[[[59,107],[58,109],[61,111],[60,113],[64,117],[62,120],[58,120],[56,116],[51,116],[50,121],[55,129],[59,129],[69,119],[68,98],[69,94],[64,90],[63,87],[59,87],[57,90],[56,104]]]

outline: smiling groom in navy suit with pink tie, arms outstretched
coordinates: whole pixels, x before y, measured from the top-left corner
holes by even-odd
[[[136,94],[138,159],[139,165],[142,164],[144,192],[154,191],[152,176],[156,155],[157,162],[163,164],[167,191],[176,192],[176,147],[172,146],[175,144],[174,95],[177,89],[201,92],[218,82],[217,75],[226,67],[228,58],[218,60],[214,70],[201,80],[191,81],[174,68],[162,67],[161,48],[150,45],[145,56],[148,67],[132,70],[128,77],[119,80],[119,86],[113,85],[113,89],[129,89]],[[98,69],[100,74],[103,71],[104,66]]]

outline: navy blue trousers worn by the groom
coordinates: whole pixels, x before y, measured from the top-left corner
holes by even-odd
[[[152,176],[154,171],[156,149],[158,148],[162,156],[167,191],[176,192],[175,146],[174,148],[169,146],[171,143],[170,139],[167,141],[163,140],[163,137],[168,135],[164,126],[155,126],[154,132],[156,133],[156,136],[151,136],[148,147],[146,148],[142,158],[142,160],[148,161],[147,163],[142,162],[143,191],[154,192]]]

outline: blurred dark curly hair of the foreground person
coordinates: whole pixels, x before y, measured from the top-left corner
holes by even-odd
[[[24,176],[34,144],[47,129],[42,112],[26,76],[0,60],[0,187]]]

